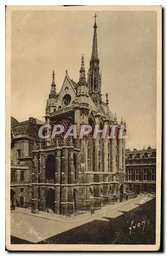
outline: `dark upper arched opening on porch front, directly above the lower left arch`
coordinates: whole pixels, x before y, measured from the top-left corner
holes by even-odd
[[[53,155],[49,155],[46,160],[46,165],[45,165],[45,178],[47,180],[55,180],[55,157]]]

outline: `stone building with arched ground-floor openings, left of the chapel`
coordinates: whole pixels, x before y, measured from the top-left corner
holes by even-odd
[[[11,207],[31,207],[32,150],[42,124],[35,118],[18,122],[11,117]]]

